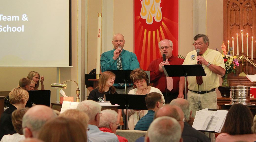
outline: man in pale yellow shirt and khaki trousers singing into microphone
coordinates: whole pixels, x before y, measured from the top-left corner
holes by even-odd
[[[198,110],[204,108],[216,109],[217,94],[215,88],[220,86],[218,74],[223,76],[226,69],[221,53],[208,48],[208,36],[203,34],[196,35],[193,45],[195,49],[200,49],[199,56],[197,56],[196,50],[193,50],[187,54],[183,64],[197,64],[199,61],[205,68],[206,73],[206,76],[202,77],[201,83],[197,81],[197,77],[188,77],[188,101],[191,106],[192,116],[195,117]],[[178,98],[183,98],[184,84],[185,78],[181,77]]]

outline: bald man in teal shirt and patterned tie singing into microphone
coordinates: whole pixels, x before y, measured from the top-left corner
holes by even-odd
[[[113,36],[112,44],[113,50],[102,53],[100,59],[101,71],[107,70],[134,70],[140,68],[140,64],[136,55],[133,52],[124,50],[124,36],[122,34],[115,34]],[[124,84],[115,83],[113,85],[118,94],[125,94]],[[132,90],[132,84],[127,84],[127,93]]]

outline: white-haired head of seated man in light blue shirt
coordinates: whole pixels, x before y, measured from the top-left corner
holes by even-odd
[[[88,114],[88,124],[99,126],[101,115],[101,106],[99,103],[92,100],[85,100],[77,105],[77,109]]]

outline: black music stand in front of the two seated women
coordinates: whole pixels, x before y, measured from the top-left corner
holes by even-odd
[[[125,129],[128,127],[128,110],[147,110],[146,95],[106,94],[106,101],[118,104],[118,109],[126,109]]]

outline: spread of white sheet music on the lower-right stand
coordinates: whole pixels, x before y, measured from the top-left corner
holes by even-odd
[[[193,123],[193,128],[203,132],[220,133],[228,111],[208,109],[199,110]]]

